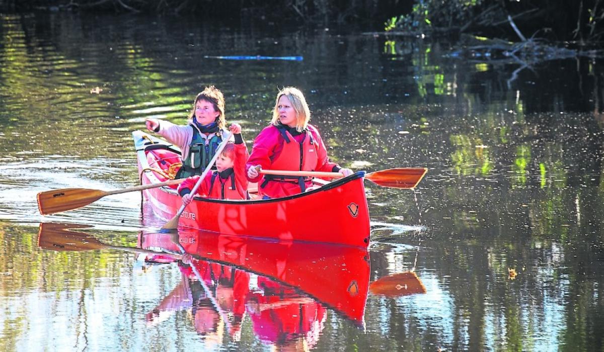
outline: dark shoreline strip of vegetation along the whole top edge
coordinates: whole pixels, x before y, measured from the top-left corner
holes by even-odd
[[[460,36],[590,45],[604,37],[604,0],[0,0],[0,11],[209,16],[274,24],[367,24],[391,35]],[[511,24],[511,26],[510,26]]]

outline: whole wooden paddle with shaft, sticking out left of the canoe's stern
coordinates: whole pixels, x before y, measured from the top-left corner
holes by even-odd
[[[111,194],[142,191],[148,190],[149,188],[169,185],[178,185],[182,181],[184,181],[184,179],[176,179],[161,182],[159,184],[122,188],[121,190],[115,191],[91,190],[88,188],[62,188],[60,190],[50,190],[37,194],[38,209],[42,215],[60,213],[62,211],[82,208],[82,206],[88,205],[104,196],[109,196]]]

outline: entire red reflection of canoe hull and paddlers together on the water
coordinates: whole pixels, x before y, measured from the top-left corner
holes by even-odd
[[[364,326],[370,274],[365,249],[198,231],[179,232],[177,240],[187,253],[177,261],[183,280],[147,314],[149,324],[191,309],[198,333],[221,341],[226,332],[237,341],[249,316],[257,338],[296,348],[316,344],[327,309]],[[141,232],[139,245],[178,251],[174,241],[173,234]],[[147,261],[155,258],[147,255]]]

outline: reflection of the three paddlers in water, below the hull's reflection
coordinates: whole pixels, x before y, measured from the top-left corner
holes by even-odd
[[[146,314],[149,325],[188,310],[198,334],[205,341],[219,343],[225,332],[239,341],[243,320],[249,315],[257,338],[278,350],[308,350],[318,341],[327,309],[293,287],[232,266],[197,260],[190,254],[177,263],[182,280]],[[198,269],[210,292],[191,266]]]

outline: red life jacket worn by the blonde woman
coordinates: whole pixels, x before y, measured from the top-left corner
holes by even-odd
[[[298,142],[285,129],[278,129],[283,136],[283,149],[277,158],[272,160],[271,168],[273,170],[288,171],[314,171],[318,162],[316,142],[312,139],[309,130],[304,132],[304,138]],[[292,177],[292,176],[274,176],[264,175],[265,181],[260,187],[264,188],[269,181],[292,182],[300,185],[300,190],[306,190],[306,182],[311,178]]]

